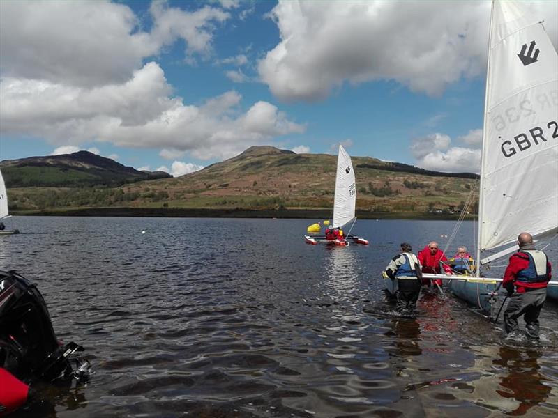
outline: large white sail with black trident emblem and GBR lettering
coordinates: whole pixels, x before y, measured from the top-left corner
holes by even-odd
[[[558,56],[525,7],[492,5],[479,250],[558,229]]]

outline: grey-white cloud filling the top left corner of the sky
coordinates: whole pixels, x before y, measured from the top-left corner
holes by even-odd
[[[150,12],[146,33],[133,10],[118,3],[0,1],[1,74],[66,86],[121,84],[175,40],[186,42],[188,57],[210,54],[214,23],[229,18],[219,8],[188,13],[160,1]]]

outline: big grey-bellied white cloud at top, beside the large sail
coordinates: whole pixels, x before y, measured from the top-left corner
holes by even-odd
[[[529,4],[557,45],[558,2]],[[280,1],[271,17],[281,41],[258,70],[282,100],[322,100],[344,82],[381,79],[439,95],[484,75],[489,1]]]

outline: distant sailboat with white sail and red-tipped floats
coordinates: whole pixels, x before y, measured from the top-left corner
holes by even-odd
[[[333,198],[333,229],[342,229],[349,222],[354,221],[356,209],[356,183],[354,177],[353,164],[351,157],[339,145],[337,156],[337,173],[335,176],[335,197]],[[326,240],[325,235],[304,235],[304,240],[308,244],[316,245],[318,242],[326,242],[331,245],[349,245],[349,240],[356,244],[368,245],[368,240],[356,235],[347,235],[342,240]]]

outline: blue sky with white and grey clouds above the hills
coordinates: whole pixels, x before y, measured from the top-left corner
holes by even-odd
[[[558,45],[558,1],[522,1]],[[255,145],[480,170],[490,1],[0,1],[0,160]]]

